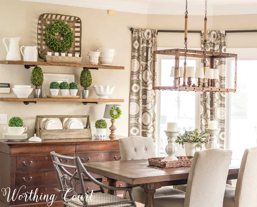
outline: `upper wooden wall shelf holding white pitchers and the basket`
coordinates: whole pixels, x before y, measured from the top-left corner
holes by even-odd
[[[124,66],[115,66],[115,65],[87,65],[87,64],[76,64],[76,63],[49,63],[49,62],[24,62],[24,61],[8,61],[8,60],[0,60],[0,64],[7,65],[24,65],[25,68],[29,68],[30,66],[35,65],[50,65],[50,66],[66,66],[66,67],[81,67],[88,69],[118,69],[124,70]]]

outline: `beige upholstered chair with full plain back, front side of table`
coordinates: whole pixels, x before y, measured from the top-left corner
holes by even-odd
[[[232,151],[207,149],[196,152],[190,168],[186,193],[155,198],[161,207],[222,207]]]

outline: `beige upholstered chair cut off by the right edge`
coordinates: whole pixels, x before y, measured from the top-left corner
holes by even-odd
[[[257,147],[246,149],[235,188],[225,190],[223,207],[257,207]]]

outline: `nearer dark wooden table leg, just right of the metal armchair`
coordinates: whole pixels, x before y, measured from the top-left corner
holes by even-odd
[[[141,184],[141,188],[144,189],[144,192],[146,193],[146,200],[144,207],[154,207],[154,194],[156,192],[156,189],[161,187],[160,183],[148,183],[148,184]]]

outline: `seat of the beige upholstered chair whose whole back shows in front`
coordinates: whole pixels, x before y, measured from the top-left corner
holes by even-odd
[[[155,198],[155,206],[161,207],[184,207],[185,192],[177,190],[178,194]]]

